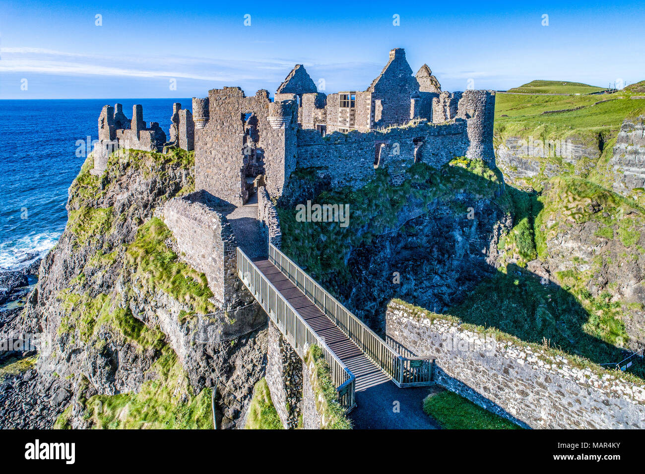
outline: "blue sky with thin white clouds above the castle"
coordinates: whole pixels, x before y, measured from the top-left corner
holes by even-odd
[[[0,1],[0,98],[204,97],[223,86],[273,94],[296,63],[324,79],[325,92],[364,90],[395,47],[414,72],[427,63],[444,90],[469,79],[499,90],[533,79],[645,79],[645,4],[118,4]]]

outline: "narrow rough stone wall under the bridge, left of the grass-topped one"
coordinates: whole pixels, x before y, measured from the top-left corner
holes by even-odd
[[[271,320],[265,377],[284,428],[296,428],[303,396],[303,361]]]

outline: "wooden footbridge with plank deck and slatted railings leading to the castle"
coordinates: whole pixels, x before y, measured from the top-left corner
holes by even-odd
[[[323,350],[347,411],[357,391],[388,380],[399,387],[433,383],[432,359],[403,357],[272,244],[268,259],[249,259],[238,247],[237,273],[301,357],[311,344]]]

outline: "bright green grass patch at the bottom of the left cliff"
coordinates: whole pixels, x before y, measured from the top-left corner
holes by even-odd
[[[94,395],[84,400],[85,417],[93,428],[206,429],[213,428],[210,388],[194,393],[175,353],[164,348],[155,362],[157,377],[139,393]],[[64,415],[64,413],[63,413]],[[61,415],[61,416],[63,416]],[[59,424],[65,425],[64,417]]]

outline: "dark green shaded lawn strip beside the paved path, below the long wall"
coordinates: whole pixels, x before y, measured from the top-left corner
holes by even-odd
[[[452,391],[428,395],[423,400],[423,411],[445,430],[521,430],[515,423]]]

